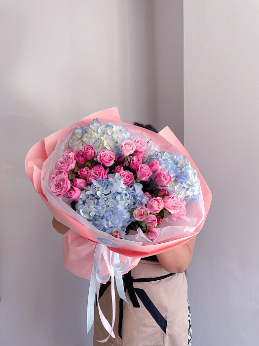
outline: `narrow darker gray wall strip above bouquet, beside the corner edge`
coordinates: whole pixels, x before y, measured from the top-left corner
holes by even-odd
[[[155,105],[159,129],[169,126],[184,144],[183,1],[154,1]]]

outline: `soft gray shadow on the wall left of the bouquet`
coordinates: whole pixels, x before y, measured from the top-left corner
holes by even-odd
[[[2,142],[12,148],[1,159],[1,345],[91,345],[89,281],[64,268],[62,236],[24,169],[29,149],[52,130],[15,115],[1,125]]]

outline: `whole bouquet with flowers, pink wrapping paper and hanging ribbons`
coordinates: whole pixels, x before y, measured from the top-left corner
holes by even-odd
[[[25,170],[52,215],[70,228],[63,261],[90,280],[87,333],[95,294],[111,277],[127,302],[122,274],[143,257],[185,244],[202,228],[212,194],[174,133],[122,123],[117,107],[52,133],[28,152]],[[108,340],[102,340],[106,342]]]

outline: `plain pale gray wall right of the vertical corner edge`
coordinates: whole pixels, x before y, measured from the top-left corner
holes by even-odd
[[[185,148],[212,194],[188,268],[193,346],[259,340],[259,1],[184,1]]]

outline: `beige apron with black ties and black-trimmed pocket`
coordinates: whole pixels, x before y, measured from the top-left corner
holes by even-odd
[[[168,271],[158,261],[145,259],[141,259],[137,266],[131,269],[133,279],[154,278],[166,274],[169,274]],[[140,293],[143,293],[144,290],[150,301],[164,317],[166,332],[157,324],[138,295],[140,307],[133,306],[128,290],[126,290],[125,295],[129,303],[123,301],[121,339],[118,335],[120,299],[115,287],[116,315],[113,327],[115,339],[110,336],[105,343],[97,342],[97,340],[105,339],[109,333],[102,325],[98,307],[95,307],[93,346],[188,346],[188,302],[185,273],[176,273],[157,281],[133,282],[133,286],[142,289],[136,290]],[[111,325],[111,285],[100,298],[99,304]]]

